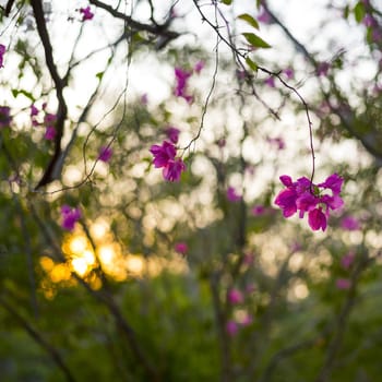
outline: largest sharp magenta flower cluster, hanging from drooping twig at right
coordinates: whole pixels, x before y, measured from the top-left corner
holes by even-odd
[[[279,179],[286,189],[277,194],[275,204],[283,210],[285,217],[293,216],[299,211],[299,217],[302,218],[305,213],[308,213],[308,223],[312,230],[324,231],[330,210],[338,210],[344,205],[339,196],[344,179],[337,174],[331,175],[319,184],[312,183],[306,177],[299,178],[296,182],[287,175],[283,175]],[[331,190],[332,194],[323,194],[323,190]]]

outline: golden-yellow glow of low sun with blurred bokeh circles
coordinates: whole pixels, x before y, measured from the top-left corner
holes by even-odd
[[[188,272],[187,261],[179,256],[145,258],[141,254],[124,253],[104,219],[97,219],[89,226],[89,237],[81,229],[68,234],[61,250],[65,256],[64,262],[55,262],[49,256],[41,256],[39,260],[40,267],[47,275],[41,280],[40,288],[48,299],[56,296],[58,286],[76,285],[76,277],[83,278],[93,289],[99,289],[103,286],[99,271],[115,282],[156,277],[164,271]]]

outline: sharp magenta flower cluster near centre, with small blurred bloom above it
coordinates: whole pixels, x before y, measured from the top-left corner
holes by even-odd
[[[186,165],[180,157],[176,157],[179,130],[172,127],[166,129],[170,142],[164,141],[162,145],[153,144],[150,152],[154,155],[153,164],[156,168],[163,168],[163,177],[168,181],[179,181]]]

